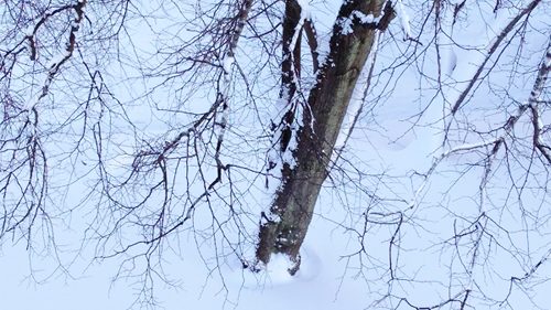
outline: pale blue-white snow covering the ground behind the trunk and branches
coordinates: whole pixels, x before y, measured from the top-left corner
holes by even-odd
[[[336,3],[339,1],[329,2],[301,1],[303,13],[316,23],[321,55],[326,54],[339,4]],[[479,146],[503,135],[497,129],[503,129],[518,103],[528,100],[536,68],[549,44],[550,6],[541,4],[530,22],[518,28],[517,36],[508,36],[508,43],[500,45],[499,56],[491,57],[487,65],[494,70],[484,71],[486,79],[475,85],[474,95],[469,94],[464,108],[451,120],[446,116],[484,62],[484,51],[518,14],[519,8],[530,1],[497,1],[501,2],[497,12],[494,12],[494,2],[467,1],[467,8],[460,11],[453,24],[454,4],[462,1],[447,1],[441,24],[443,32],[436,36],[430,31],[433,21],[423,28],[430,9],[428,1],[395,2],[398,17],[379,38],[370,87],[364,90],[365,75],[358,83],[347,117],[349,124],[345,127],[350,128],[359,108],[361,114],[350,137],[339,138],[339,147],[347,141],[341,164],[332,172],[318,199],[303,246],[301,269],[295,277],[288,275],[288,263],[282,257],[274,257],[267,269],[258,274],[244,269],[242,261],[220,240],[220,232],[209,231],[210,212],[226,220],[223,209],[226,205],[217,204],[226,196],[208,204],[214,205],[215,211],[198,209],[193,225],[184,225],[171,235],[152,257],[142,256],[141,247],[110,257],[145,233],[131,225],[111,226],[112,218],[87,209],[87,199],[98,199],[87,194],[97,186],[90,181],[95,173],[90,167],[94,152],[65,157],[64,150],[71,142],[52,138],[50,148],[60,154],[52,159],[53,171],[60,175],[53,181],[55,195],[50,201],[54,216],[51,223],[45,221],[39,226],[32,243],[13,232],[2,236],[0,309],[85,310],[140,306],[244,310],[410,309],[402,298],[417,307],[434,307],[442,300],[456,298],[465,288],[473,290],[469,309],[547,309],[551,268],[547,264],[539,265],[537,270],[532,268],[538,261],[545,263],[551,255],[551,206],[544,192],[549,164],[534,163],[529,170],[526,165],[530,164],[530,158],[517,158],[514,153],[509,159],[498,154],[496,164],[490,167],[491,173],[486,174],[489,165],[484,164],[484,159],[490,145]],[[181,81],[173,78],[171,70],[185,72],[185,66],[174,65],[168,70],[174,60],[156,53],[195,38],[193,26],[179,25],[179,11],[173,4],[152,3],[138,9],[155,18],[148,25],[136,15],[129,18],[127,33],[119,39],[122,56],[96,54],[95,60],[87,60],[98,67],[109,65],[102,78],[106,85],[112,85],[109,92],[114,92],[120,103],[105,118],[101,116],[107,111],[101,106],[88,109],[97,126],[109,125],[105,127],[109,131],[105,141],[110,142],[106,145],[105,164],[112,175],[128,172],[134,160],[132,154],[143,149],[143,141],[170,140],[180,128],[191,124],[194,113],[207,109],[216,95],[208,86],[215,78],[214,73],[199,70],[198,77],[190,77],[188,85],[180,85]],[[89,10],[91,14],[93,8]],[[201,25],[201,21],[191,24],[194,23]],[[269,28],[260,22],[257,26]],[[84,26],[83,32],[86,30]],[[247,32],[250,29],[245,31],[245,36],[250,35]],[[418,42],[408,40],[412,38]],[[501,50],[503,46],[508,47]],[[259,128],[268,131],[270,118],[284,113],[284,107],[273,106],[278,101],[279,84],[273,82],[273,76],[279,76],[278,67],[262,67],[270,56],[261,49],[276,46],[259,47],[255,40],[239,43],[233,63],[235,86],[228,89],[228,95],[237,99],[230,107],[229,128],[225,133],[229,142],[224,161],[245,164],[252,171],[264,168],[270,143],[269,138],[258,138],[264,136],[258,133]],[[45,67],[51,67],[56,57],[60,55],[45,56],[42,60]],[[231,67],[227,60],[220,60],[220,65],[226,72]],[[21,66],[17,72],[23,76],[25,70],[28,67]],[[78,72],[77,66],[74,70]],[[139,77],[143,72],[156,75],[144,81]],[[257,74],[247,74],[251,72]],[[46,99],[83,100],[87,89],[78,90],[78,84],[74,86],[77,90],[63,88],[64,83],[73,87],[71,76],[74,74],[69,72],[60,78],[62,82],[54,82],[53,87],[60,83],[54,88],[55,98]],[[246,83],[252,85],[253,100],[244,90]],[[312,81],[304,76],[304,87],[307,88],[309,83]],[[40,85],[36,82],[24,96],[36,98],[42,89]],[[547,100],[548,89],[542,95]],[[44,113],[56,117],[52,119],[71,114],[68,107]],[[549,119],[548,114],[542,111],[543,120]],[[129,126],[128,119],[136,127]],[[69,126],[63,130],[78,139],[75,128]],[[446,128],[450,131],[443,143]],[[515,135],[529,137],[529,130],[530,119],[521,119]],[[347,130],[343,132],[346,135]],[[86,143],[94,141],[83,142]],[[519,153],[530,149],[519,145],[511,142]],[[454,151],[462,148],[468,152]],[[450,152],[454,154],[442,156]],[[64,161],[67,158],[72,167]],[[356,169],[363,173],[355,175]],[[214,175],[213,171],[209,170],[209,177]],[[186,183],[174,174],[176,191],[179,186],[196,191],[191,194],[194,199],[203,191],[204,184]],[[236,209],[245,218],[241,225],[247,233],[241,235],[229,224],[224,226],[227,231],[222,232],[223,236],[227,233],[229,238],[246,240],[238,246],[240,258],[252,254],[255,244],[250,240],[256,237],[258,215],[269,205],[273,193],[272,183],[267,189],[264,178],[251,179],[251,175],[242,172],[235,179],[236,186],[242,189]],[[486,180],[485,175],[491,178]],[[521,181],[525,191],[517,186]],[[483,183],[487,188],[480,190]],[[228,183],[223,186],[222,193],[228,190]],[[136,196],[120,193],[130,195],[125,197],[129,204],[139,201],[143,193],[138,186],[134,190]],[[173,212],[185,213],[188,207],[185,194],[175,195],[181,196],[174,200]],[[160,202],[161,197],[155,196],[150,203],[155,201]],[[147,217],[148,212],[132,216]],[[227,218],[234,217],[227,215]],[[118,238],[101,239],[95,235],[108,232]],[[465,239],[456,237],[462,234]],[[55,247],[48,237],[53,235]],[[90,257],[97,259],[90,263]],[[465,257],[475,257],[476,263],[466,261]],[[393,264],[398,266],[389,268]],[[531,277],[526,282],[511,285],[511,277],[521,278],[528,272]],[[151,296],[155,299],[149,299]],[[458,309],[456,306],[444,304],[442,309]]]

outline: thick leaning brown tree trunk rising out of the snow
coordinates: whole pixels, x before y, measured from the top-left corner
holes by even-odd
[[[368,18],[371,14],[372,21]],[[282,253],[295,263],[289,271],[294,274],[299,269],[299,250],[327,177],[354,87],[374,45],[376,31],[383,31],[393,15],[390,1],[383,0],[349,0],[341,8],[329,55],[317,72],[317,83],[304,108],[303,126],[298,131],[298,147],[293,151],[295,164],[283,164],[282,185],[270,207],[274,215],[270,218],[277,220],[260,227],[258,260],[268,264],[271,254]]]

